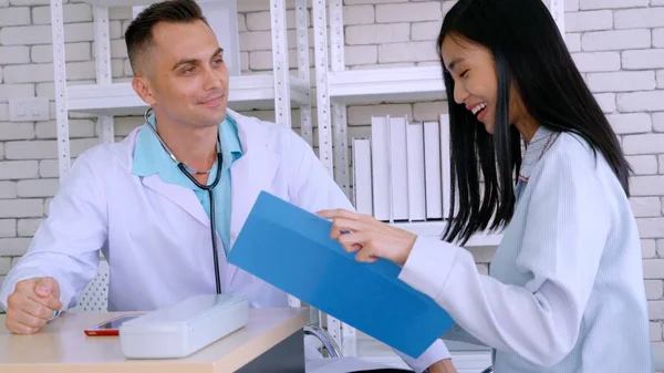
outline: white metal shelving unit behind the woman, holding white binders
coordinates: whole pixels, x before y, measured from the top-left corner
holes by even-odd
[[[544,2],[564,34],[564,1],[544,0]],[[439,66],[413,66],[346,70],[343,1],[313,0],[312,8],[318,123],[321,138],[320,157],[330,173],[334,174],[336,183],[350,196],[346,105],[446,100],[442,69]],[[328,12],[330,13],[329,24]],[[325,38],[328,27],[329,40]],[[330,44],[330,53],[328,53],[328,44]],[[449,185],[443,187],[449,188]],[[445,225],[445,221],[395,224],[395,226],[428,237],[439,237]],[[500,242],[500,238],[501,235],[476,235],[466,246],[496,246]],[[338,338],[345,354],[361,355],[380,362],[391,362],[395,365],[402,364],[401,359],[396,355],[386,356],[384,351],[374,349],[369,352],[369,355],[366,351],[359,351],[361,344],[356,336],[357,333],[350,325],[333,323],[331,333]],[[480,354],[480,359],[485,358],[484,354]],[[474,370],[473,372],[480,371]]]

